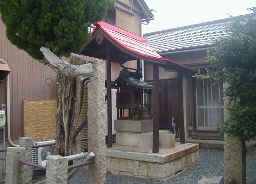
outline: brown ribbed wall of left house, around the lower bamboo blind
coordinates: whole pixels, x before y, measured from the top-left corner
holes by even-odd
[[[17,49],[6,38],[5,26],[0,20],[0,58],[10,69],[10,127],[12,140],[24,135],[23,100],[56,99],[57,78],[52,69],[32,59],[25,51]],[[51,84],[46,80],[50,78]],[[6,104],[6,82],[0,82],[0,105]],[[46,114],[47,115],[47,114]],[[42,125],[43,127],[43,125]],[[0,134],[0,137],[2,135]]]

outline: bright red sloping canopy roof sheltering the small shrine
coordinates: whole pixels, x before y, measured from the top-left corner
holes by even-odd
[[[94,25],[96,28],[92,32],[92,39],[85,45],[85,48],[81,54],[106,59],[106,55],[103,55],[102,52],[99,52],[102,51],[104,47],[106,47],[106,43],[103,43],[105,40],[100,43],[101,46],[95,44],[96,36],[100,33],[117,48],[111,48],[111,60],[114,62],[124,63],[126,61],[135,60],[137,58],[148,62],[161,64],[163,67],[164,65],[169,65],[170,67],[174,67],[176,70],[185,70],[194,73],[198,72],[197,70],[194,70],[176,61],[163,58],[147,44],[147,39],[141,36],[110,25],[104,21],[95,22]]]

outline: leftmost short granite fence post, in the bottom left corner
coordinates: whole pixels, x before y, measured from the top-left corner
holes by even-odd
[[[6,156],[6,184],[22,184],[24,165],[18,163],[19,159],[25,157],[25,148],[8,147]]]

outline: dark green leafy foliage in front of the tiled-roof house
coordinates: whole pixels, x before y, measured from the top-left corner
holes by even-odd
[[[207,53],[214,69],[196,76],[229,84],[225,96],[230,99],[230,119],[217,129],[248,141],[256,136],[256,19],[239,17],[227,30],[230,36],[216,40]]]

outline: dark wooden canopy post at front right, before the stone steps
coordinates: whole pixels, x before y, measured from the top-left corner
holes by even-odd
[[[153,153],[159,152],[159,71],[158,65],[153,64],[154,99],[153,99]]]

